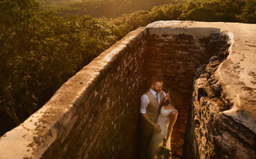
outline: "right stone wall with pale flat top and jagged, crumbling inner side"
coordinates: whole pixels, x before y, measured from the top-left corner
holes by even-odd
[[[150,25],[217,28],[228,35],[231,46],[227,59],[221,64],[214,60],[225,56],[225,51],[220,50],[217,57],[209,60],[212,66],[199,68],[197,76],[206,74],[194,84],[192,118],[196,129],[195,134],[190,131],[190,137],[195,135],[196,141],[191,140],[187,145],[198,148],[200,158],[255,158],[255,24],[160,21]],[[184,158],[195,157],[193,154]]]

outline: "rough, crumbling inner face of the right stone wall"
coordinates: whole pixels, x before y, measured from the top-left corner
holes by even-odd
[[[208,64],[203,64],[196,72],[192,122],[200,158],[256,157],[255,133],[223,113],[230,110],[233,103],[214,75],[228,56],[230,44],[223,46]]]

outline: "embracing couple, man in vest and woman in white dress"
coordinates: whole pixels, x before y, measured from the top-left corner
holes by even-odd
[[[170,93],[162,90],[163,79],[152,77],[149,90],[141,96],[140,113],[141,141],[140,158],[156,158],[159,147],[171,149],[171,134],[178,111],[174,106]],[[165,138],[165,142],[163,142]]]

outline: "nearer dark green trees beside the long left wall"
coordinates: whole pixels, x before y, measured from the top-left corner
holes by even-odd
[[[104,19],[63,19],[35,1],[1,1],[0,111],[24,121],[117,39]]]

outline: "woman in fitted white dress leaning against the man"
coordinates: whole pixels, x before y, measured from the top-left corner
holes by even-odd
[[[163,104],[161,113],[156,122],[156,124],[161,127],[161,132],[154,131],[149,143],[148,158],[156,158],[156,151],[158,147],[162,145],[165,145],[167,149],[171,149],[171,134],[178,116],[178,111],[173,104],[174,102],[172,102],[169,97],[169,94],[170,93],[167,93],[167,102]],[[163,138],[166,138],[164,143]]]

